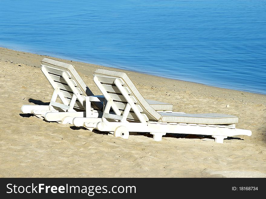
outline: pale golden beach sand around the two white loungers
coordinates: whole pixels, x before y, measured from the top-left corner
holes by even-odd
[[[115,138],[22,114],[23,104],[49,103],[53,89],[40,70],[45,55],[0,48],[0,177],[266,177],[266,95],[125,71],[144,98],[186,113],[239,117],[251,136],[215,143],[211,137],[149,134]],[[97,68],[70,60],[95,95]]]

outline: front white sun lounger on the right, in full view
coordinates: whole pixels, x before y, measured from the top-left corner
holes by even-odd
[[[109,131],[115,137],[126,139],[129,131],[148,132],[153,134],[154,141],[161,141],[166,133],[211,135],[218,143],[223,143],[228,136],[251,136],[251,131],[235,128],[237,116],[218,113],[159,113],[148,104],[123,72],[97,69],[93,80],[107,104],[102,121],[85,122],[83,125],[87,128]]]

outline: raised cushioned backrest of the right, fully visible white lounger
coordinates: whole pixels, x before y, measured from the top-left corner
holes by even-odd
[[[101,88],[99,88],[97,85],[98,88],[101,91],[104,89],[104,91],[102,91],[104,96],[109,95],[112,97],[114,103],[122,114],[123,111],[125,111],[128,101],[126,100],[125,96],[122,95],[119,88],[117,88],[115,85],[115,79],[119,80],[121,85],[125,88],[125,91],[136,104],[138,110],[141,112],[141,115],[146,121],[158,121],[161,118],[161,115],[157,113],[143,98],[133,82],[128,78],[127,74],[124,72],[97,69],[94,72],[93,80],[95,81],[96,85],[99,83],[101,84]],[[128,114],[128,119],[139,120],[135,112],[132,110]]]

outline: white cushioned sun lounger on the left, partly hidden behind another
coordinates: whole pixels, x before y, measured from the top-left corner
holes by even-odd
[[[50,104],[23,105],[22,113],[32,113],[38,118],[61,124],[72,124],[75,117],[102,117],[104,97],[93,95],[73,65],[44,58],[41,61],[41,71],[54,88]],[[172,104],[153,100],[148,102],[156,111],[172,112]]]

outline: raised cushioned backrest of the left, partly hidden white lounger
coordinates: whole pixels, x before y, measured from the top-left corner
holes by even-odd
[[[53,87],[58,87],[60,89],[60,93],[63,94],[59,95],[61,101],[63,104],[68,103],[70,104],[71,98],[73,97],[73,90],[70,88],[70,85],[65,81],[65,79],[62,76],[62,73],[64,72],[66,76],[69,78],[69,81],[74,85],[77,92],[80,94],[80,98],[76,99],[74,108],[85,110],[85,97],[93,95],[92,91],[86,86],[83,79],[80,77],[76,69],[73,65],[57,61],[50,58],[44,58],[41,61],[41,70],[44,73],[44,75],[47,77],[48,81]],[[47,73],[49,75],[47,75]],[[101,103],[92,103],[92,108],[97,110],[102,110],[102,104]]]

